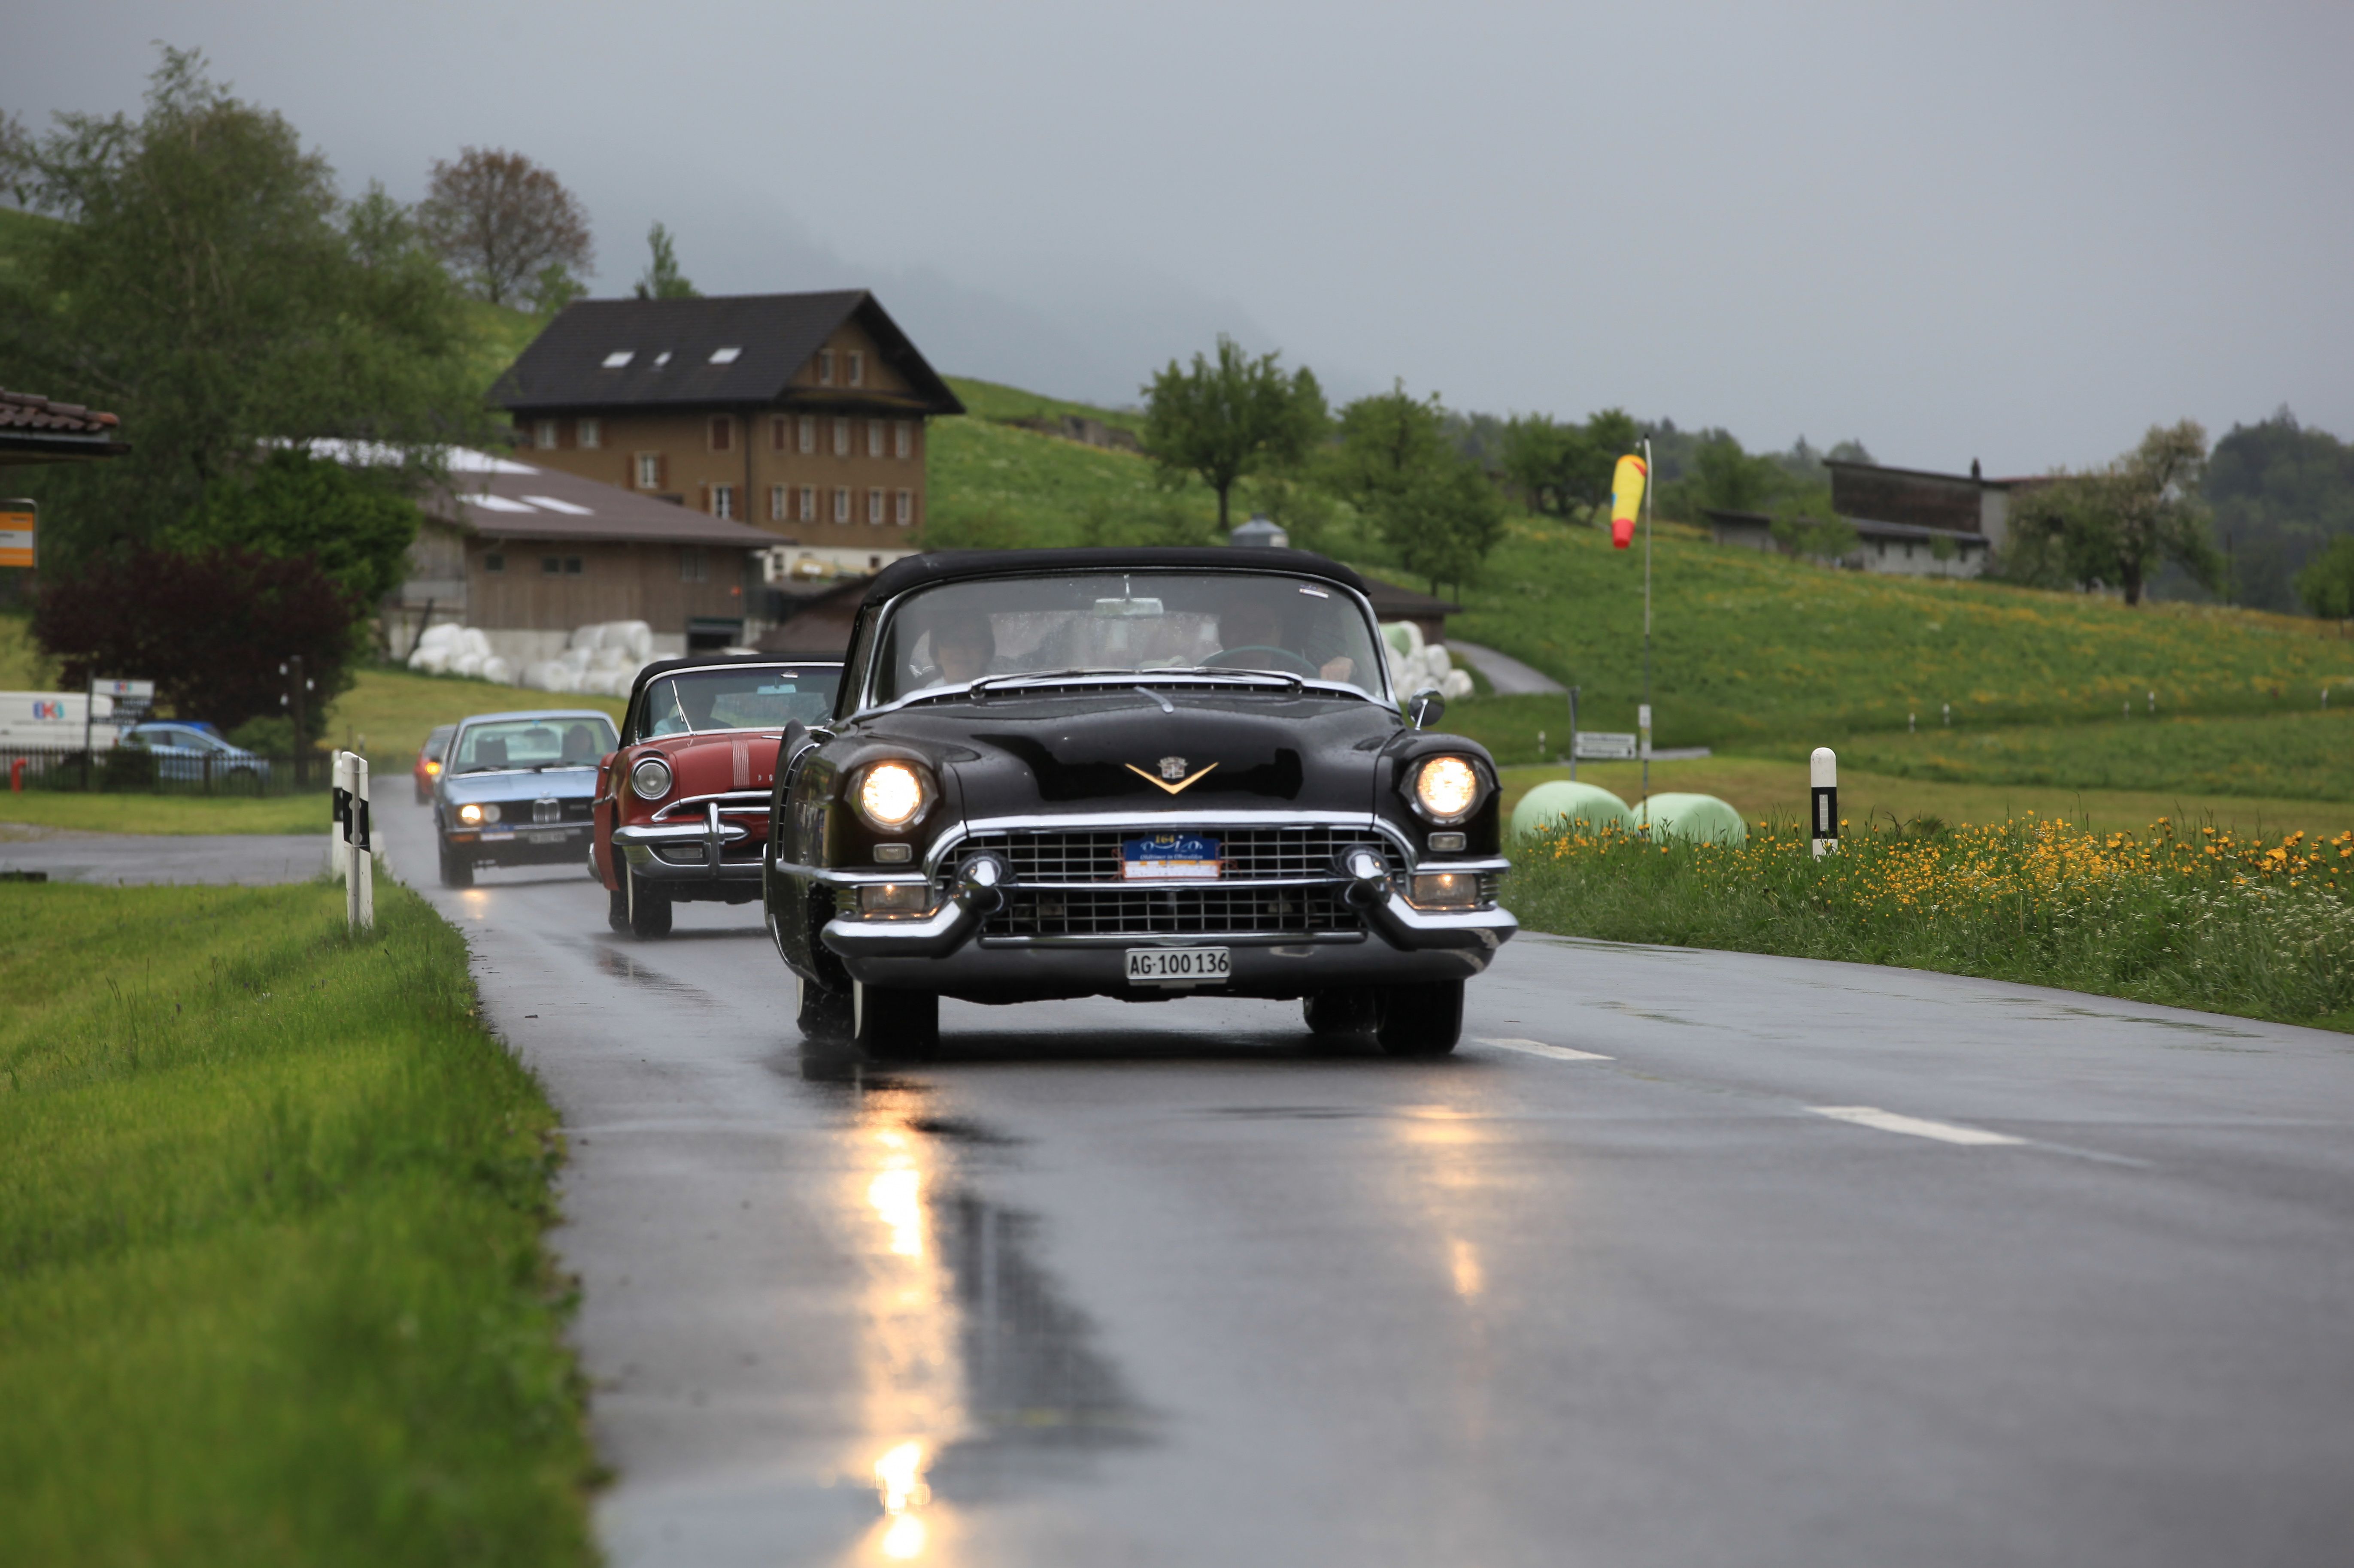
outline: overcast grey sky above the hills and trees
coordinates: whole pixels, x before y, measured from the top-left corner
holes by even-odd
[[[1335,393],[2083,464],[2354,433],[2354,5],[28,7],[0,108],[202,47],[346,188],[508,146],[706,292],[869,285],[949,372],[1135,400],[1226,330]]]

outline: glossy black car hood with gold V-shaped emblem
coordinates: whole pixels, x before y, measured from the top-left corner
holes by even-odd
[[[1144,692],[927,704],[862,732],[932,756],[953,777],[965,817],[1186,817],[1370,812],[1377,753],[1403,727],[1394,709],[1354,697],[1161,695],[1168,709]]]

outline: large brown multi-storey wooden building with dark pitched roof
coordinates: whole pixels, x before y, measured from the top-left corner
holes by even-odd
[[[518,457],[777,544],[904,551],[949,384],[864,290],[565,306],[492,388]]]

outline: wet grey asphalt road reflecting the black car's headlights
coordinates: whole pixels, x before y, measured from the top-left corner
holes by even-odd
[[[1450,1059],[951,1003],[878,1074],[753,906],[428,892],[572,1128],[617,1563],[2354,1559],[2354,1038],[1523,937]]]

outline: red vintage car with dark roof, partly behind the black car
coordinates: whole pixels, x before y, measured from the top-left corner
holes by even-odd
[[[607,921],[671,932],[680,899],[753,904],[767,850],[777,739],[833,716],[838,659],[706,655],[638,671],[621,749],[598,763],[591,862]]]

